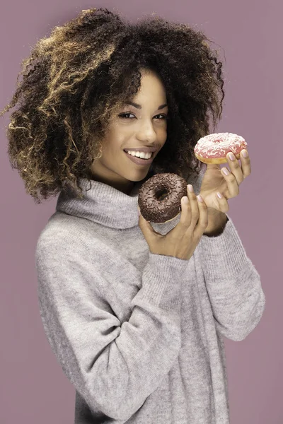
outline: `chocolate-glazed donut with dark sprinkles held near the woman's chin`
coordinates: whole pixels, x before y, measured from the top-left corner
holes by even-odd
[[[151,223],[166,223],[180,213],[183,196],[187,196],[183,177],[171,172],[156,174],[139,189],[141,215]]]

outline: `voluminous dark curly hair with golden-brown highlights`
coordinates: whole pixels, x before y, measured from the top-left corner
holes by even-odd
[[[83,10],[52,29],[21,62],[17,88],[0,116],[11,167],[40,203],[64,189],[82,197],[79,179],[91,183],[103,137],[120,108],[139,90],[141,69],[158,74],[168,102],[167,139],[149,169],[198,175],[197,140],[221,119],[222,63],[205,35],[183,23],[148,16],[136,24],[105,8]],[[19,82],[19,76],[23,79]]]

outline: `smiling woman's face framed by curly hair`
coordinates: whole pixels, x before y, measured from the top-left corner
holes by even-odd
[[[126,194],[131,192],[134,182],[146,177],[151,163],[134,163],[125,149],[156,148],[152,159],[161,150],[167,137],[166,91],[155,73],[141,71],[141,87],[132,102],[137,107],[126,104],[114,117],[105,135],[102,158],[91,165],[92,179]]]

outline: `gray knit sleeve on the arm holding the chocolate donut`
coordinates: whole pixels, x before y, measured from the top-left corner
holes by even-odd
[[[89,261],[90,255],[96,260]],[[87,252],[65,235],[40,237],[35,258],[40,315],[64,374],[93,411],[125,422],[158,388],[180,351],[187,261],[150,253],[132,314],[120,322],[107,302],[107,269],[95,266],[105,261],[101,247]]]

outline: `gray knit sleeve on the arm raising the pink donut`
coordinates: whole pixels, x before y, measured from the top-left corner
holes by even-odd
[[[202,236],[200,263],[216,329],[226,338],[241,341],[260,321],[265,294],[260,275],[228,218],[220,235]]]

